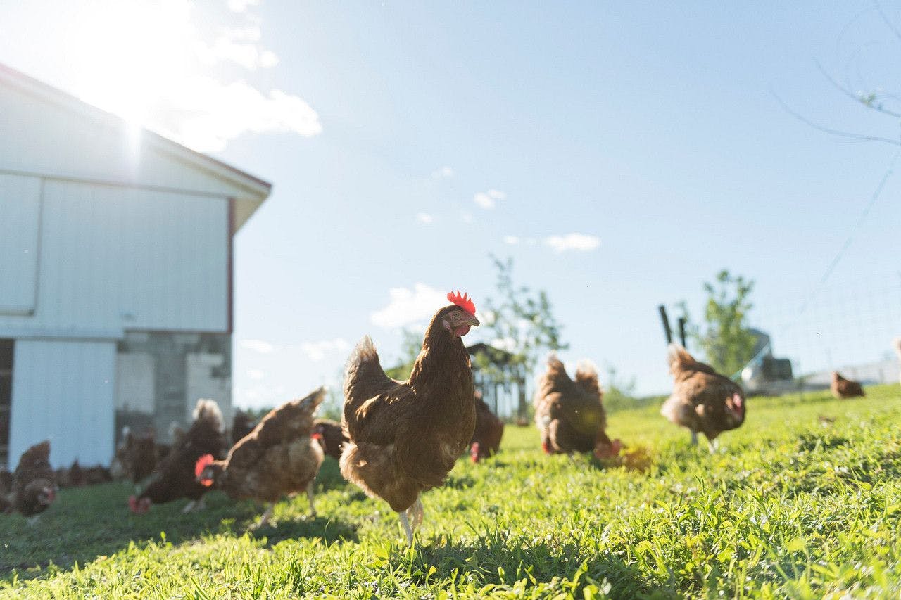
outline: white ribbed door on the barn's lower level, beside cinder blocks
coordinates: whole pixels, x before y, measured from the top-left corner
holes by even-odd
[[[109,464],[114,377],[113,341],[15,341],[10,466],[47,439],[54,468]]]

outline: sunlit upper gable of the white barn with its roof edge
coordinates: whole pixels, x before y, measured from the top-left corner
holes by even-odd
[[[130,160],[123,156],[126,141],[135,139],[130,123],[2,63],[0,132],[7,149],[22,145],[0,152],[0,172],[231,197],[232,233],[272,187],[147,129],[140,130],[140,159]]]

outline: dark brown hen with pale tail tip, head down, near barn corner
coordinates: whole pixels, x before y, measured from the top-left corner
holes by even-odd
[[[166,459],[159,463],[150,484],[137,497],[128,499],[132,513],[144,514],[153,503],[162,504],[179,498],[190,502],[183,513],[203,508],[207,487],[200,485],[194,471],[197,459],[210,454],[223,459],[228,450],[223,414],[213,400],[198,400],[194,409],[194,423],[172,447]]]

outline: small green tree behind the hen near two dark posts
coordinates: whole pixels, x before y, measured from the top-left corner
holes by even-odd
[[[720,271],[715,283],[704,284],[705,331],[692,331],[710,365],[726,376],[732,376],[753,358],[756,338],[747,326],[753,288],[753,280],[733,277],[728,270]]]

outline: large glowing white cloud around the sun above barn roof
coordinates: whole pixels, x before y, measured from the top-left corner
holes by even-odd
[[[278,64],[249,10],[258,4],[229,0],[229,13],[189,0],[94,0],[57,42],[77,73],[71,91],[199,151],[245,133],[314,136],[323,127],[301,97],[247,81]]]

